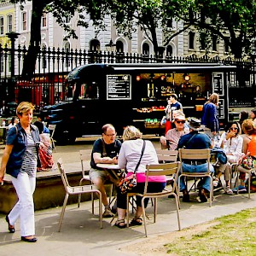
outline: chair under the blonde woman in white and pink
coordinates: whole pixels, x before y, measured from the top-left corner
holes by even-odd
[[[147,171],[146,171],[146,180],[145,180],[145,188],[143,194],[139,193],[127,193],[127,206],[126,206],[126,219],[127,219],[127,226],[129,226],[129,204],[130,204],[130,197],[134,195],[141,196],[142,199],[142,207],[143,207],[143,224],[144,224],[144,230],[145,230],[145,236],[147,237],[147,223],[146,223],[146,212],[144,207],[144,200],[146,198],[154,199],[154,223],[156,221],[157,216],[157,199],[159,197],[164,197],[166,195],[173,195],[175,198],[176,203],[176,211],[177,211],[177,224],[178,224],[178,230],[181,230],[180,226],[180,218],[179,218],[179,203],[178,198],[176,195],[176,187],[177,187],[177,174],[178,170],[180,168],[180,162],[173,162],[173,163],[161,163],[161,164],[155,164],[155,165],[147,165]],[[151,193],[148,192],[148,177],[150,176],[160,176],[160,175],[166,175],[166,176],[173,176],[174,177],[174,185],[172,186],[172,189],[168,189],[167,187],[162,192],[155,192]]]

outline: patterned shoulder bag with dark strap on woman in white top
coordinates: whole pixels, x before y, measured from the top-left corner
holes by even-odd
[[[120,182],[119,182],[119,189],[121,191],[121,194],[125,194],[127,193],[129,190],[135,188],[137,186],[137,177],[136,177],[136,172],[137,172],[137,168],[141,163],[141,160],[143,158],[143,154],[144,154],[144,149],[145,149],[145,145],[146,142],[143,141],[143,150],[142,150],[142,154],[140,157],[140,160],[137,163],[137,166],[135,167],[134,172],[130,175],[130,176],[126,176],[123,177]]]

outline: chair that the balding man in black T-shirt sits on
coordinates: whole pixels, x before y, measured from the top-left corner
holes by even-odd
[[[82,185],[83,181],[87,181],[91,183],[89,177],[89,170],[90,170],[90,158],[91,158],[91,149],[81,149],[79,150],[81,167],[82,167],[82,178],[80,179],[79,185]],[[110,183],[110,192],[109,192],[109,205],[112,202],[112,195],[113,195],[113,183]],[[81,201],[81,195],[79,195],[79,206]],[[94,193],[91,193],[91,206],[92,206],[92,213],[94,213]]]

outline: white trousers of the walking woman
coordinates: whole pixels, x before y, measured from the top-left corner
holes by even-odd
[[[9,223],[14,225],[20,218],[20,236],[35,235],[34,201],[33,193],[36,188],[36,177],[29,177],[27,173],[20,172],[18,177],[11,177],[19,201],[9,212]]]

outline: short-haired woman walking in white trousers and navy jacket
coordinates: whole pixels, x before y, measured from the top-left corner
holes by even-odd
[[[15,222],[20,218],[22,241],[35,242],[33,193],[36,187],[38,163],[37,145],[40,143],[38,128],[32,125],[34,106],[20,102],[16,109],[20,123],[10,128],[3,151],[0,183],[4,173],[11,176],[19,200],[6,216],[10,233],[15,233]]]

